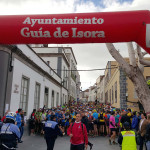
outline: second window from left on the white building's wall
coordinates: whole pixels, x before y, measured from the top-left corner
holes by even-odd
[[[40,103],[40,84],[35,84],[35,93],[34,93],[34,109],[39,109]]]

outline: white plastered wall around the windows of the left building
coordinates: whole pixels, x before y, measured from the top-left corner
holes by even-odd
[[[40,107],[43,107],[44,103],[44,89],[45,87],[49,88],[49,102],[48,107],[51,107],[51,94],[52,90],[55,91],[55,106],[56,106],[56,92],[59,93],[60,97],[60,87],[49,81],[46,77],[43,77],[38,72],[35,72],[22,62],[17,59],[14,59],[14,68],[13,68],[13,83],[12,83],[12,95],[11,95],[11,104],[10,110],[16,111],[19,108],[20,104],[20,92],[21,92],[21,81],[22,76],[29,78],[29,94],[28,94],[28,110],[27,115],[30,116],[33,107],[34,107],[34,92],[35,92],[35,84],[36,82],[40,83],[41,91],[40,91]],[[18,85],[18,93],[14,93],[15,85]],[[63,89],[63,93],[67,93],[65,89]],[[60,98],[59,98],[60,99]],[[60,100],[59,100],[60,101]]]

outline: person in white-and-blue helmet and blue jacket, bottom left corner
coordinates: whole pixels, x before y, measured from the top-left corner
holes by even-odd
[[[16,113],[9,112],[6,115],[6,122],[3,124],[0,131],[1,150],[15,150],[17,147],[17,140],[20,138],[20,130],[15,125]]]

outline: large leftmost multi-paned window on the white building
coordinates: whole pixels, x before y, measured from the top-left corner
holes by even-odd
[[[25,77],[22,77],[19,108],[22,108],[24,112],[27,112],[28,91],[29,91],[29,80]]]

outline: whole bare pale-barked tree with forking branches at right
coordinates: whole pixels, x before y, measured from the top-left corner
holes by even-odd
[[[144,78],[144,65],[150,66],[150,61],[144,59],[147,52],[142,52],[139,45],[136,50],[131,42],[127,43],[129,63],[121,56],[112,43],[106,44],[108,51],[112,57],[119,63],[121,68],[126,73],[127,77],[132,81],[139,102],[143,105],[145,112],[150,113],[150,89]]]

